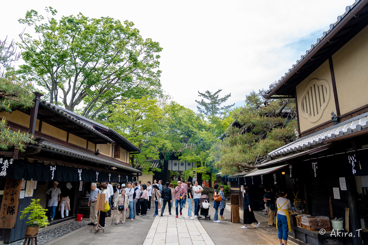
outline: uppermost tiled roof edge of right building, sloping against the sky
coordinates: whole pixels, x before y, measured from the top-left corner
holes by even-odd
[[[312,44],[312,45],[311,45],[311,48],[310,48],[309,50],[306,50],[304,55],[301,55],[300,60],[297,60],[296,64],[294,64],[294,65],[289,69],[289,71],[285,73],[285,76],[282,76],[282,77],[281,77],[277,82],[275,81],[274,83],[270,84],[269,89],[267,90],[266,94],[269,94],[273,89],[275,89],[275,87],[276,87],[277,85],[279,85],[281,82],[283,82],[283,80],[284,80],[284,79],[286,79],[292,71],[294,71],[294,70],[298,70],[298,69],[299,69],[299,67],[300,67],[300,65],[299,65],[299,64],[300,64],[304,59],[309,58],[309,57],[310,57],[310,55],[311,55],[311,53],[313,53],[313,52],[314,52],[314,50],[316,49],[316,47],[318,46],[318,44],[320,44],[320,43],[322,42],[322,40],[324,40],[324,39],[326,38],[326,36],[327,36],[327,35],[328,35],[328,34],[329,34],[333,29],[335,29],[335,28],[336,28],[336,26],[337,26],[337,25],[339,25],[339,24],[343,21],[343,19],[344,19],[345,17],[347,17],[347,16],[348,16],[348,13],[349,13],[349,12],[351,12],[351,10],[353,10],[353,8],[354,8],[357,4],[359,4],[359,2],[362,2],[362,1],[363,1],[363,0],[355,0],[355,2],[354,2],[353,4],[351,4],[350,6],[347,6],[347,7],[345,8],[345,10],[346,10],[346,11],[345,11],[342,15],[339,15],[339,16],[337,17],[337,21],[336,21],[335,23],[333,23],[333,24],[331,24],[331,25],[330,25],[330,29],[328,29],[328,30],[326,30],[325,32],[323,32],[322,37],[317,38],[316,43]]]

